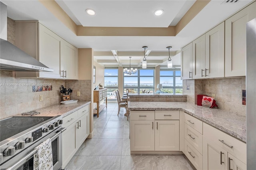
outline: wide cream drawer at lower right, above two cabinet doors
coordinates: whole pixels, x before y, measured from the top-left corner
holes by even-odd
[[[234,155],[246,164],[246,143],[222,132],[206,123],[204,126],[204,136],[210,141],[218,144],[221,148]],[[220,141],[222,140],[222,141]],[[224,143],[226,144],[224,144]],[[229,147],[229,146],[230,147]]]

